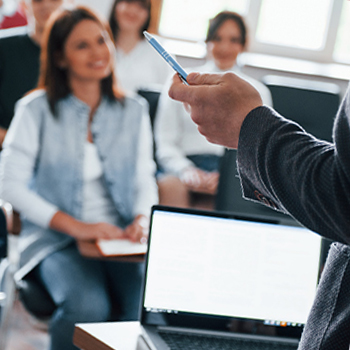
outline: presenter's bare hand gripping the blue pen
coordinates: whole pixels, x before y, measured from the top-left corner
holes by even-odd
[[[209,142],[237,148],[245,117],[262,105],[258,91],[234,73],[191,73],[187,81],[189,86],[175,75],[169,96],[190,107],[198,131]]]

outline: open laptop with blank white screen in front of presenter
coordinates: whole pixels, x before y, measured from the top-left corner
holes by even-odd
[[[152,350],[297,349],[322,239],[300,226],[154,206],[141,300]]]

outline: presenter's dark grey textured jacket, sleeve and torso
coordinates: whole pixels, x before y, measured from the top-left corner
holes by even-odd
[[[349,350],[350,90],[334,143],[317,140],[268,107],[242,125],[238,168],[244,196],[269,203],[334,243],[299,349]],[[302,244],[302,242],[300,242]]]

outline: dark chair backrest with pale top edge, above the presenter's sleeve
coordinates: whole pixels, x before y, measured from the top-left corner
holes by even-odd
[[[274,109],[322,140],[332,140],[333,121],[340,104],[340,88],[333,83],[267,75]]]

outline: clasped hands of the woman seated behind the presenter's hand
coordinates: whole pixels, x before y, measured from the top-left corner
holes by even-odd
[[[218,172],[206,172],[198,168],[187,168],[181,174],[181,181],[190,191],[215,194],[218,182]]]

